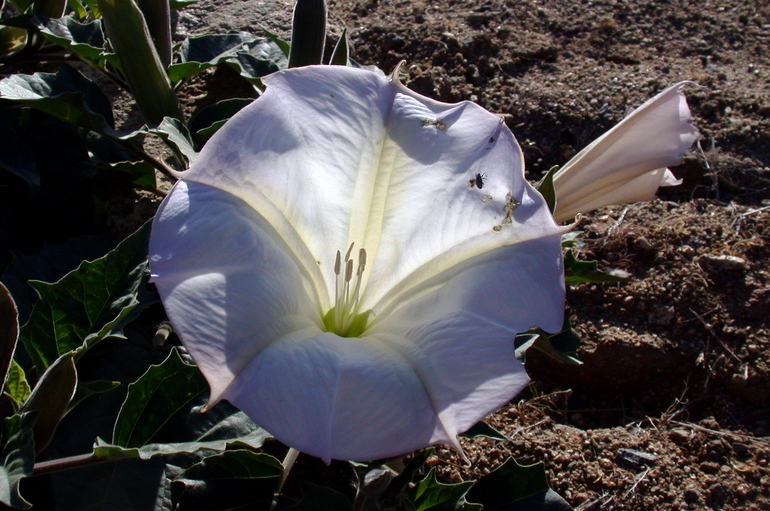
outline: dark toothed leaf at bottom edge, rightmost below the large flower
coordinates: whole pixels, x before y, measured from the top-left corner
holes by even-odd
[[[468,492],[468,500],[482,504],[484,511],[572,509],[569,506],[566,508],[543,507],[547,502],[554,500],[553,495],[549,497],[549,492],[555,494],[548,487],[542,463],[522,466],[513,458],[508,458],[505,463],[476,482]]]

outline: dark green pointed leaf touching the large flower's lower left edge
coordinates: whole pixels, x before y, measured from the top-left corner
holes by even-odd
[[[175,348],[162,364],[150,367],[128,386],[112,443],[121,447],[149,443],[172,415],[207,388],[198,368],[185,364]]]

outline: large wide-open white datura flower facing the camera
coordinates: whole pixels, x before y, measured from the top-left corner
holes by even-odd
[[[561,328],[565,228],[478,105],[340,66],[264,83],[153,224],[207,406],[327,462],[459,449],[528,383],[515,334]]]

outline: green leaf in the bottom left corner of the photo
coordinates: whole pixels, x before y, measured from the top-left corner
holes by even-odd
[[[32,474],[35,464],[35,438],[32,424],[36,413],[13,415],[3,420],[0,432],[2,466],[0,467],[0,502],[6,506],[28,509],[31,504],[19,493],[19,483]]]

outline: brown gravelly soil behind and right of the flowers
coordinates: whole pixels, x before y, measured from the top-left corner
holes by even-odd
[[[262,26],[289,1],[201,0],[176,37]],[[578,254],[625,284],[572,286],[584,364],[531,354],[527,395],[489,422],[509,440],[439,450],[449,480],[543,461],[576,509],[770,509],[770,5],[767,0],[329,1],[352,57],[442,101],[502,114],[539,179],[662,88],[703,138],[660,199],[588,215]],[[205,80],[187,102],[206,100]],[[208,98],[210,101],[211,98]]]

